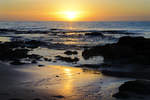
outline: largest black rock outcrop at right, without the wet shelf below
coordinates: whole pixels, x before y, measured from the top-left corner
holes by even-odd
[[[150,64],[150,39],[125,36],[118,43],[95,46],[82,52],[85,59],[103,56],[104,61]]]

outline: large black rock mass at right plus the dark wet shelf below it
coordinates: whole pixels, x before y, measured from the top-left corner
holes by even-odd
[[[125,36],[117,43],[85,49],[82,53],[84,59],[103,56],[104,63],[84,66],[100,68],[103,74],[110,76],[150,79],[149,44],[150,39]]]

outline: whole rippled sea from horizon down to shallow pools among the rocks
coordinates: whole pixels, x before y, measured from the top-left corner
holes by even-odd
[[[122,36],[143,36],[150,38],[150,22],[0,22],[0,41],[37,40],[49,47],[37,48],[33,52],[55,59],[67,50],[78,50],[77,64],[102,63],[103,57],[84,60],[82,51],[96,45],[115,43]],[[11,31],[13,30],[13,31]],[[101,32],[101,36],[85,35]],[[65,55],[64,55],[65,56]],[[100,60],[100,61],[99,61]],[[64,64],[62,62],[58,64]],[[65,63],[66,65],[66,63]],[[68,63],[67,63],[68,65]],[[69,64],[70,65],[70,64]]]

